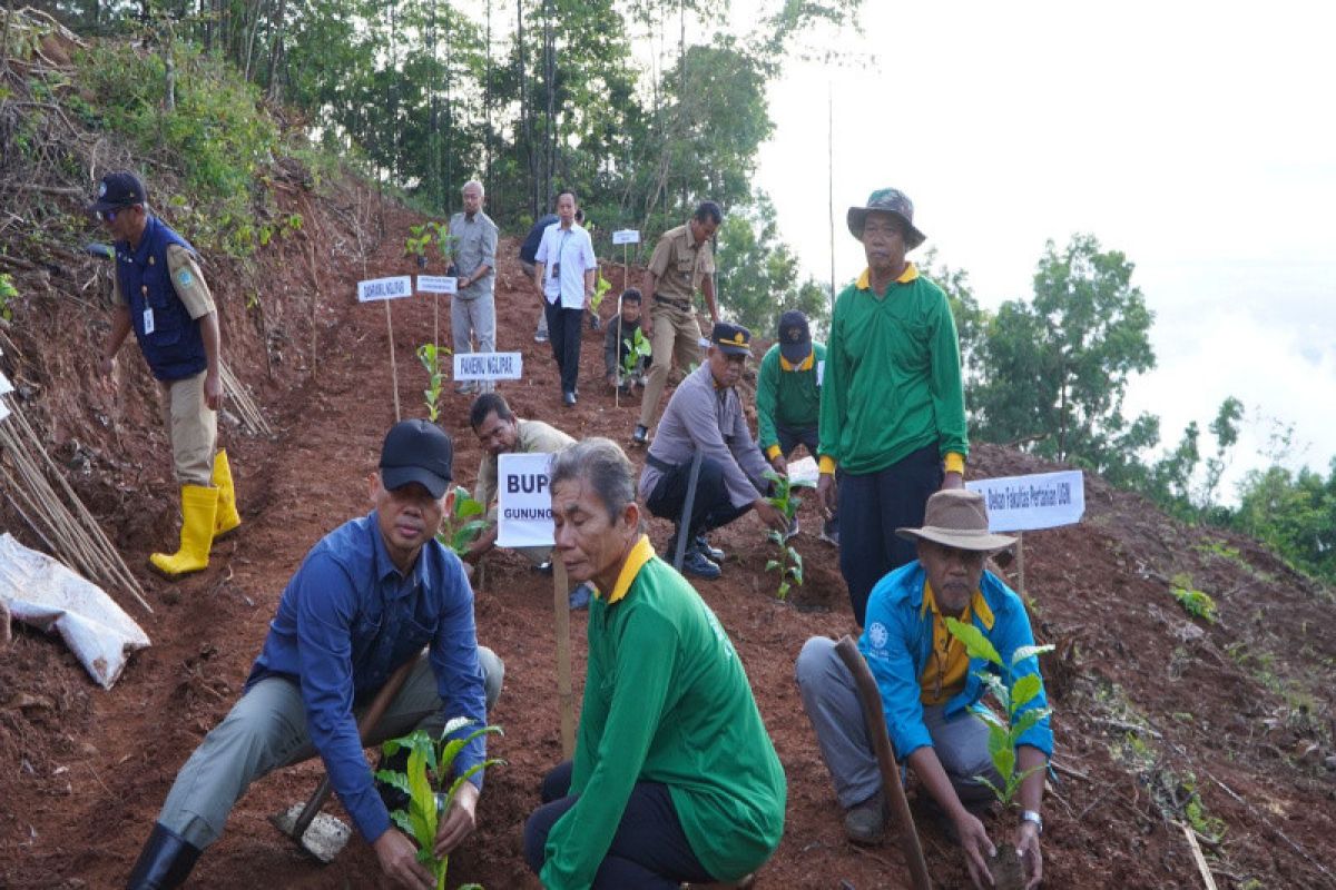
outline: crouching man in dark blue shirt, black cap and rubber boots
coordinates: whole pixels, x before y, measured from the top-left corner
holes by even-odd
[[[414,729],[437,735],[448,717],[482,725],[501,693],[505,667],[477,644],[464,567],[434,538],[452,506],[453,454],[450,438],[426,420],[397,423],[385,436],[370,478],[374,510],[326,535],[289,582],[242,699],[182,767],[130,887],[180,886],[253,781],[317,754],[385,874],[405,887],[433,886],[414,843],[390,823],[357,721],[411,659],[367,745]],[[469,742],[457,773],[485,755],[484,738]],[[441,819],[437,855],[473,831],[481,775]]]

